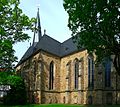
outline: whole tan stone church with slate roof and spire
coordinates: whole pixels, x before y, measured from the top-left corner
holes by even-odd
[[[95,57],[78,49],[72,38],[61,43],[42,35],[39,11],[37,28],[16,67],[30,103],[120,104],[120,77],[109,59],[96,66]]]

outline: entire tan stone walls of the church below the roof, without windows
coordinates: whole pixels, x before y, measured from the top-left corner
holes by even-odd
[[[79,86],[75,89],[75,60],[82,61]],[[54,63],[54,88],[49,90],[49,67]],[[35,66],[34,66],[35,65]],[[94,69],[94,88],[88,88],[88,54],[80,51],[63,58],[40,51],[17,68],[26,83],[31,103],[120,104],[120,77],[112,65],[111,87],[105,87],[105,69]],[[36,70],[36,73],[34,72]],[[116,79],[117,77],[117,79]],[[109,97],[109,99],[108,99]]]

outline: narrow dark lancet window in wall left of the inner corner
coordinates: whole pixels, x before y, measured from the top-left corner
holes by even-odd
[[[49,70],[49,90],[52,90],[54,87],[54,62],[50,63],[50,70]]]

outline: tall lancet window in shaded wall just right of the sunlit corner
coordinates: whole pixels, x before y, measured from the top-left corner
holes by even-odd
[[[88,57],[88,87],[94,87],[94,59]]]

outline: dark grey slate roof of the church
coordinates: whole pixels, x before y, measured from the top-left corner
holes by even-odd
[[[43,35],[38,43],[34,43],[34,46],[32,45],[28,48],[17,66],[22,64],[25,60],[40,50],[46,51],[58,57],[64,57],[73,52],[83,50],[83,48],[78,50],[72,38],[64,41],[63,43],[60,43],[48,35]]]

